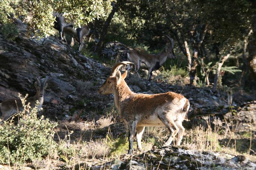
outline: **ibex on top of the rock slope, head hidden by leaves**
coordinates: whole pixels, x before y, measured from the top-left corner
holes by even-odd
[[[81,52],[84,47],[84,36],[87,36],[90,32],[90,28],[87,25],[84,25],[81,28],[78,27],[74,29],[73,25],[67,24],[64,21],[64,17],[61,15],[56,16],[56,19],[54,21],[54,28],[59,31],[60,40],[64,40],[65,42],[67,42],[65,33],[73,35],[76,41],[79,43],[79,46],[77,48],[79,52]]]

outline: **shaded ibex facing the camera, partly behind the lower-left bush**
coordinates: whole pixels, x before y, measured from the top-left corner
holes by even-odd
[[[44,90],[47,87],[47,79],[47,77],[40,80],[36,78],[36,82],[34,83],[36,87],[36,95],[33,97],[28,97],[26,99],[26,104],[30,103],[31,107],[35,107],[36,100],[38,100],[40,103],[38,109],[42,107],[44,103]],[[17,107],[20,112],[22,112],[24,109],[20,99],[9,99],[0,103],[0,113],[2,113],[2,116],[0,117],[0,124],[3,124],[3,121],[6,121],[9,117],[16,114]]]

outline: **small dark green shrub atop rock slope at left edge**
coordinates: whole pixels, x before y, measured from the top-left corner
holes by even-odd
[[[3,33],[5,39],[13,41],[18,37],[20,30],[12,23],[5,23],[1,28],[1,33]]]

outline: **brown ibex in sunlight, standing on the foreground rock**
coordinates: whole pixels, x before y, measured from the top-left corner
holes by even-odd
[[[130,90],[124,79],[127,70],[121,75],[119,68],[131,62],[116,63],[110,76],[98,90],[99,94],[114,94],[115,105],[120,117],[129,129],[129,151],[132,153],[136,134],[137,150],[141,150],[141,137],[145,126],[166,126],[170,136],[164,146],[170,145],[178,134],[176,145],[180,145],[185,131],[182,121],[187,119],[189,101],[174,92],[161,94],[137,94]]]

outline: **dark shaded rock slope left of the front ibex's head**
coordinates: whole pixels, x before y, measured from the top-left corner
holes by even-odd
[[[102,101],[111,98],[97,94],[109,72],[110,68],[54,37],[36,41],[20,34],[13,42],[0,34],[0,101],[17,98],[18,92],[34,95],[36,77],[49,76],[43,106],[46,115],[62,119],[79,109],[89,112],[85,108],[104,108]],[[88,82],[90,90],[81,90]]]

